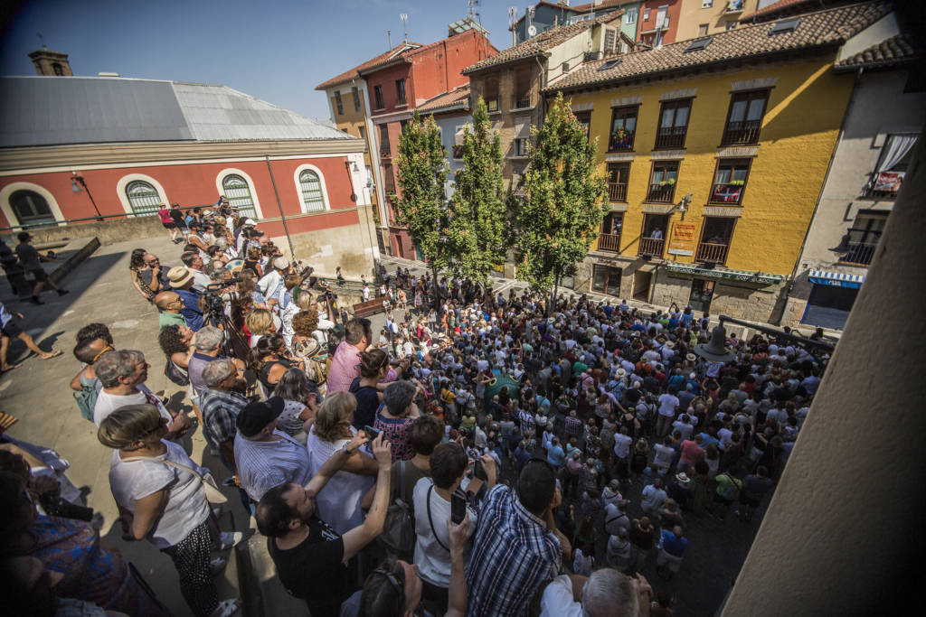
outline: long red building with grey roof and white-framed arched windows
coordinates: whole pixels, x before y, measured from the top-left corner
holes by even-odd
[[[224,86],[83,77],[0,86],[16,110],[0,119],[0,228],[150,216],[158,204],[225,194],[284,250],[285,216],[295,257],[319,272],[343,265],[359,276],[379,256],[363,140]]]

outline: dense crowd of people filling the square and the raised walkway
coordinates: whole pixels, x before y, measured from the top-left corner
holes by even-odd
[[[158,215],[182,265],[138,249],[130,275],[158,310],[165,375],[313,617],[673,614],[641,572],[681,570],[693,517],[751,520],[828,359],[756,335],[726,339],[731,359],[715,362],[695,353],[711,324],[690,308],[548,306],[402,268],[361,281],[382,299],[375,332],[227,201]],[[213,556],[245,530],[219,532],[225,497],[183,447],[194,423],[145,386],[155,360],[117,343],[82,328],[70,386],[112,450],[123,537],[169,555],[194,614],[231,615]],[[67,462],[4,439],[0,489],[19,506],[0,523],[3,567],[23,606],[51,573],[68,601],[165,612],[100,543]],[[92,565],[61,566],[74,543]],[[68,584],[87,568],[98,585]]]

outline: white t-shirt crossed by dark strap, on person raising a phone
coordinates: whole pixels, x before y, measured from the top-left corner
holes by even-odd
[[[415,533],[418,539],[415,541],[415,563],[418,565],[418,572],[421,578],[432,585],[439,587],[450,586],[450,537],[447,535],[447,519],[450,518],[450,502],[444,500],[437,494],[437,489],[431,491],[431,521],[434,524],[434,531],[431,530],[431,522],[428,520],[428,489],[433,486],[430,477],[422,477],[415,484],[414,497],[415,502]],[[467,508],[469,515],[469,537],[472,537],[476,530],[476,512]],[[442,547],[434,535],[437,535],[443,544]],[[469,561],[469,545],[464,557]]]

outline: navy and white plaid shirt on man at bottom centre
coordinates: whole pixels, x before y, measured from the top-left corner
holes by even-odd
[[[467,615],[527,614],[537,589],[558,574],[560,550],[559,538],[514,490],[493,487],[482,502],[467,568]]]

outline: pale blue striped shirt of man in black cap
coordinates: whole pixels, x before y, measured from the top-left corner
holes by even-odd
[[[234,462],[241,487],[252,500],[259,501],[270,488],[287,482],[306,486],[312,479],[308,451],[286,433],[274,430],[279,441],[252,441],[234,438]]]

